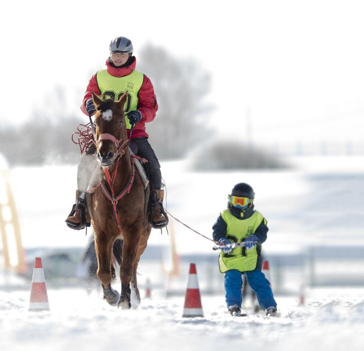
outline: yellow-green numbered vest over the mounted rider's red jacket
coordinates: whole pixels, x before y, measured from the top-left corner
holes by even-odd
[[[119,100],[120,96],[128,91],[124,112],[136,110],[138,107],[138,92],[142,88],[144,74],[133,71],[124,77],[114,77],[108,73],[108,70],[102,70],[96,74],[97,85],[101,91],[102,99]],[[125,115],[126,128],[130,129],[129,119]]]

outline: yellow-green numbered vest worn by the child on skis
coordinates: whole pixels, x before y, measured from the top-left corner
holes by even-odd
[[[227,225],[226,238],[237,243],[245,241],[249,235],[254,234],[262,220],[266,223],[266,220],[258,211],[255,211],[247,219],[237,219],[229,210],[225,210],[221,213],[221,217]],[[218,259],[220,272],[224,273],[231,269],[237,269],[241,272],[254,270],[258,254],[260,255],[260,245],[255,245],[252,249],[246,249],[244,246],[237,247],[229,254],[220,251]]]

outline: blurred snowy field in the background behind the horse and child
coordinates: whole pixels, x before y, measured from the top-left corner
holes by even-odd
[[[227,194],[244,181],[255,190],[255,208],[268,220],[270,252],[300,251],[308,245],[364,245],[364,157],[295,158],[278,171],[193,172],[188,161],[164,162],[167,209],[202,234],[226,208]],[[84,247],[84,231],[64,220],[74,203],[76,166],[17,167],[10,183],[21,221],[24,247]],[[201,199],[201,196],[203,198]],[[42,224],[40,224],[42,223]],[[209,241],[171,220],[179,253],[211,253]],[[311,235],[307,235],[307,232]],[[191,240],[193,245],[191,245]],[[150,245],[169,245],[152,230]]]

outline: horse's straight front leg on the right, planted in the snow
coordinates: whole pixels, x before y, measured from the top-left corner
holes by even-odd
[[[138,232],[124,231],[123,261],[120,266],[121,297],[119,306],[130,308],[130,281],[133,278],[133,265],[139,245]]]

